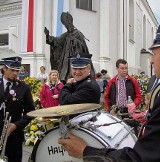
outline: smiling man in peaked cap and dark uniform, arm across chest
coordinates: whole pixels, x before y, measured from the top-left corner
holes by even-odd
[[[100,102],[100,88],[90,75],[91,57],[81,53],[70,58],[73,78],[68,79],[60,92],[60,105]]]

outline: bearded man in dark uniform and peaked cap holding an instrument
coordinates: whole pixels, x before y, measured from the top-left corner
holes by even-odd
[[[34,110],[34,104],[29,86],[17,80],[22,58],[9,57],[2,60],[4,66],[0,79],[0,134],[5,114],[9,112],[11,123],[5,155],[8,162],[22,162],[23,129],[31,120],[26,114]]]

